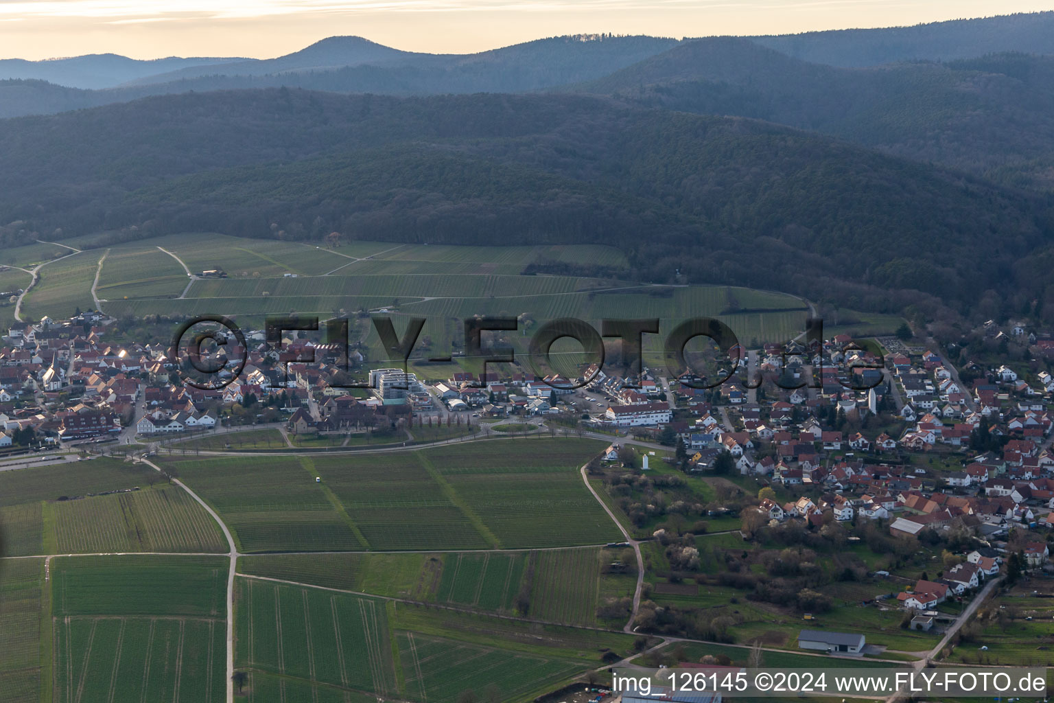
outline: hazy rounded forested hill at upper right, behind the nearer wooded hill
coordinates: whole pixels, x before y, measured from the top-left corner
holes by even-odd
[[[746,39],[717,38],[685,42],[568,90],[764,119],[1009,184],[1054,190],[1050,56],[840,69]]]

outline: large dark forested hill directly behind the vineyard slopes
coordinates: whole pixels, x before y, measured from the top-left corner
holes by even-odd
[[[1045,198],[607,98],[164,96],[0,122],[0,153],[6,242],[99,230],[593,241],[628,252],[644,280],[682,269],[873,309],[919,301],[912,291],[960,307],[985,288],[1031,295],[1050,277],[1012,276],[1054,232]]]

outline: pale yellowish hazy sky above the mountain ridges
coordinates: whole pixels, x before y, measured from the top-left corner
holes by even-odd
[[[333,35],[465,53],[563,34],[780,34],[1051,8],[1052,0],[0,0],[0,56],[268,58]]]

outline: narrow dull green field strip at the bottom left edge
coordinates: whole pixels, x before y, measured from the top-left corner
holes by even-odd
[[[43,559],[0,559],[0,691],[5,703],[41,697]]]

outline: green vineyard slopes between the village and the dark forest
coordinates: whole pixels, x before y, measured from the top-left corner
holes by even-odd
[[[95,246],[98,238],[75,243]],[[73,240],[72,240],[73,241]],[[194,274],[222,269],[228,278],[199,279],[186,298],[188,284],[175,257]],[[0,263],[26,266],[69,254],[51,245],[17,248]],[[336,250],[275,239],[245,239],[219,234],[182,234],[85,249],[41,271],[26,296],[25,313],[64,317],[93,305],[91,287],[103,253],[98,295],[110,314],[226,314],[255,324],[265,314],[332,315],[341,310],[397,306],[399,314],[429,319],[425,334],[446,349],[461,335],[460,320],[475,314],[529,312],[535,320],[573,316],[661,317],[672,325],[688,316],[717,316],[746,344],[785,340],[802,329],[804,305],[781,293],[691,286],[640,286],[622,252],[607,247],[430,247],[388,242],[349,242]],[[523,275],[532,263],[608,267],[623,278],[573,275]],[[23,278],[12,274],[15,279]],[[23,284],[24,285],[24,284]],[[733,291],[733,292],[729,292]],[[729,297],[736,305],[729,309]],[[737,313],[742,309],[746,312]],[[875,320],[861,320],[861,324]],[[871,329],[863,325],[865,329]],[[877,328],[887,327],[885,320]],[[876,329],[877,329],[876,328]],[[376,340],[367,343],[375,347]]]

